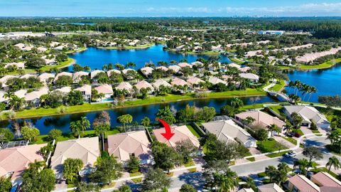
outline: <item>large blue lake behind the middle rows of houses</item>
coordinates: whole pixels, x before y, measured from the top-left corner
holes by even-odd
[[[146,63],[153,62],[155,64],[158,61],[170,62],[171,60],[179,61],[181,59],[187,59],[189,63],[194,62],[197,58],[210,58],[210,55],[191,55],[191,54],[178,54],[164,51],[163,45],[151,46],[146,49],[131,49],[131,50],[109,50],[99,48],[88,48],[87,50],[70,55],[70,58],[77,60],[77,63],[85,66],[88,65],[92,70],[102,69],[102,65],[108,63],[121,63],[126,64],[128,62],[136,63],[136,69],[143,68]],[[213,55],[214,56],[214,55]],[[229,58],[224,55],[220,55],[221,61],[231,62]],[[70,66],[68,70],[72,70]]]

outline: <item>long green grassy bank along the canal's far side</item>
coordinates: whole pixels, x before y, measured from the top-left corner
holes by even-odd
[[[108,103],[99,103],[99,104],[90,104],[85,103],[83,105],[70,106],[67,107],[67,110],[63,114],[72,114],[72,113],[80,113],[80,112],[91,112],[91,111],[100,111],[100,110],[111,110],[113,108],[121,108],[121,107],[134,107],[140,105],[153,105],[158,103],[167,103],[167,102],[177,102],[181,100],[197,100],[197,99],[210,99],[210,98],[228,98],[228,97],[249,97],[249,96],[260,96],[266,95],[266,92],[262,90],[256,89],[247,89],[242,91],[227,91],[227,92],[210,92],[205,97],[197,98],[193,95],[193,93],[188,93],[186,95],[172,95],[169,94],[164,97],[149,97],[146,100],[134,100],[134,101],[126,101],[123,105],[111,107]],[[28,117],[43,117],[47,115],[58,115],[58,108],[39,108],[39,109],[31,109],[31,110],[23,110],[20,112],[16,112],[16,119],[18,118],[28,118]],[[2,115],[4,116],[4,115]],[[1,119],[6,119],[6,117],[1,117]]]

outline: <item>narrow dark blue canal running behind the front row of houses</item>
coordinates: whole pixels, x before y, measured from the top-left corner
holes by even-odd
[[[262,96],[262,97],[242,97],[241,100],[244,101],[244,105],[252,105],[256,103],[263,102],[274,102],[270,97]],[[169,105],[174,110],[183,109],[186,105],[195,105],[196,107],[215,107],[217,112],[219,112],[220,107],[229,104],[231,98],[229,99],[203,99],[203,100],[188,100],[188,101],[180,101],[180,102],[170,102],[166,104],[157,104],[157,105],[146,105],[139,107],[126,107],[119,108],[114,110],[108,110],[111,117],[112,127],[119,125],[117,123],[117,117],[122,114],[131,114],[133,116],[133,121],[141,122],[141,119],[144,117],[148,117],[151,121],[155,120],[155,114],[158,112],[160,107],[164,107]],[[96,117],[96,114],[99,112],[85,112],[79,114],[64,114],[58,116],[46,116],[39,118],[31,118],[31,119],[16,119],[14,121],[23,122],[26,120],[28,122],[32,122],[35,127],[40,129],[40,134],[48,134],[50,129],[60,129],[63,132],[70,132],[70,122],[77,121],[80,117],[86,116],[91,124]],[[11,127],[11,121],[2,121],[0,122],[0,127]]]

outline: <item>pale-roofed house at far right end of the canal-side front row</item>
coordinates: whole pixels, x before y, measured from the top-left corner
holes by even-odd
[[[291,114],[293,112],[298,113],[302,117],[302,127],[310,127],[312,121],[315,122],[315,124],[317,124],[320,128],[328,129],[330,127],[330,122],[328,122],[328,119],[325,117],[325,115],[318,112],[318,110],[316,110],[314,107],[303,105],[284,106],[284,113],[291,121]]]

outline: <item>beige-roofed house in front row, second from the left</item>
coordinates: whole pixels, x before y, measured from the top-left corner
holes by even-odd
[[[66,159],[80,159],[85,169],[89,169],[94,166],[100,155],[98,137],[57,142],[50,166],[55,171],[56,178],[63,178],[63,164]]]

